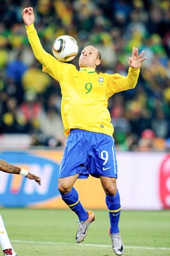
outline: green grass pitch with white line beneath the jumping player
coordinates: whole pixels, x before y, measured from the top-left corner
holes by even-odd
[[[71,210],[1,209],[18,256],[111,256],[107,211],[94,210],[96,221],[81,244]],[[170,255],[170,211],[122,211],[120,220],[126,256]],[[1,255],[1,252],[0,252]]]

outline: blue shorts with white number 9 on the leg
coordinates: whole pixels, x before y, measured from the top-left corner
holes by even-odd
[[[60,164],[59,178],[79,173],[79,179],[89,175],[117,178],[117,158],[114,140],[99,132],[71,130]]]

